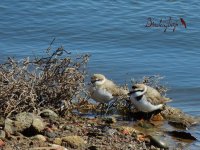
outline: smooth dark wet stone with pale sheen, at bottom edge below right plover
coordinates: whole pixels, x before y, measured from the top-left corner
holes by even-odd
[[[150,144],[152,144],[158,148],[164,148],[164,149],[169,148],[168,145],[164,141],[162,141],[159,136],[150,135],[149,138],[150,138]]]

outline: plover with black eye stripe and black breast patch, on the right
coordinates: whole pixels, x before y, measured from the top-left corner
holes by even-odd
[[[135,84],[132,86],[132,89],[133,91],[129,93],[130,100],[142,112],[149,113],[162,109],[166,102],[171,101],[168,98],[162,97],[156,89],[145,84]]]

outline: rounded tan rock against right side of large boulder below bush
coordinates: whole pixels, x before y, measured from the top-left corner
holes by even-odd
[[[39,116],[34,116],[32,127],[38,132],[41,132],[42,130],[44,130],[45,124],[44,124],[42,118],[40,118]]]

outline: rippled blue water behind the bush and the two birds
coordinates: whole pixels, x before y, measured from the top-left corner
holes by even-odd
[[[187,28],[147,28],[148,17],[183,18]],[[165,76],[171,105],[200,116],[198,0],[1,0],[0,19],[0,62],[40,55],[55,37],[54,48],[91,54],[89,74],[119,84]]]

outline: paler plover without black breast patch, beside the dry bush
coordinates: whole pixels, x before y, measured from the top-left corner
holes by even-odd
[[[113,104],[115,98],[128,96],[128,90],[117,86],[102,74],[94,74],[91,77],[89,92],[92,99],[99,103],[108,103],[108,107]]]

